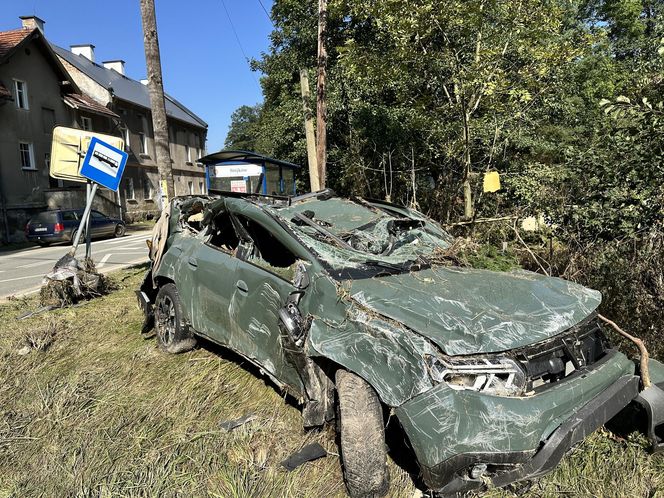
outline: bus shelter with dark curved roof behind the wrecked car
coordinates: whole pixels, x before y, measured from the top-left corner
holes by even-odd
[[[209,191],[295,195],[297,164],[244,150],[222,150],[199,159]]]

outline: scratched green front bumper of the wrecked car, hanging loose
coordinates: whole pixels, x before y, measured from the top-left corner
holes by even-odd
[[[529,397],[455,391],[439,384],[396,409],[427,486],[442,494],[530,479],[632,401],[648,418],[653,450],[663,445],[664,367],[651,360],[657,385],[639,393],[634,363],[617,351]],[[653,438],[655,440],[653,440]]]

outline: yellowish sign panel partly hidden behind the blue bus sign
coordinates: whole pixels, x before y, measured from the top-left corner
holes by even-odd
[[[81,165],[86,156],[90,141],[93,137],[123,150],[124,140],[112,135],[102,135],[92,131],[79,130],[57,126],[53,130],[53,143],[51,145],[51,161],[49,173],[53,178],[69,180],[72,182],[87,182],[81,176]]]

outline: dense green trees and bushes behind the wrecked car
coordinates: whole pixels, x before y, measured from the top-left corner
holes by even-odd
[[[256,147],[304,165],[299,69],[315,81],[317,2],[272,14]],[[467,179],[477,217],[544,215],[556,274],[612,303],[620,274],[625,318],[652,333],[653,286],[623,264],[653,261],[662,237],[664,1],[330,0],[328,27],[328,185],[446,223]],[[495,194],[480,191],[489,170]]]

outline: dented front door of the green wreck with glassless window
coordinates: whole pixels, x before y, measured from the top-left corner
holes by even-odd
[[[301,377],[284,355],[279,329],[279,310],[296,290],[292,273],[297,258],[259,222],[239,215],[236,219],[247,229],[252,247],[238,251],[229,305],[229,344],[302,392]]]

